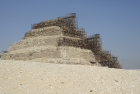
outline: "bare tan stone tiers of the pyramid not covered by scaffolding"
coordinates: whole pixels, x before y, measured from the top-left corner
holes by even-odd
[[[90,64],[95,62],[91,50],[71,46],[59,46],[61,38],[80,38],[64,36],[63,29],[50,26],[33,29],[26,32],[24,37],[11,44],[2,55],[2,60],[24,60],[50,63]]]

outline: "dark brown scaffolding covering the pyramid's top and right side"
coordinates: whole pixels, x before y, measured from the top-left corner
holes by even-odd
[[[99,62],[102,66],[120,69],[121,65],[119,64],[117,57],[113,57],[109,51],[102,50],[100,34],[94,34],[90,37],[86,37],[85,29],[78,28],[77,23],[76,13],[70,13],[63,17],[33,24],[31,28],[37,29],[48,26],[59,26],[63,29],[64,36],[76,37],[75,39],[61,37],[58,41],[59,46],[72,46],[89,49],[95,55],[96,62]]]

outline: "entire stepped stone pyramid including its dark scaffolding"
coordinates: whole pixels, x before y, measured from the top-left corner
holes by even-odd
[[[86,37],[77,26],[76,13],[32,24],[20,41],[11,44],[2,60],[100,65],[121,68],[117,57],[103,51],[100,35]]]

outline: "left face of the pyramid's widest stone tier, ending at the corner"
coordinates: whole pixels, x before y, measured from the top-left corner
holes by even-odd
[[[56,47],[55,46],[34,46],[19,50],[14,50],[9,53],[5,53],[2,55],[2,59],[4,60],[31,60],[34,58],[41,57],[52,57],[55,58],[57,56]]]

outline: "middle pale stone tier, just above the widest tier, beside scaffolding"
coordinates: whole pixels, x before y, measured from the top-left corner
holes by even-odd
[[[73,37],[67,37],[67,36],[40,36],[40,37],[34,37],[34,38],[28,38],[24,40],[17,41],[13,44],[11,44],[7,51],[13,51],[13,50],[18,50],[18,49],[23,49],[23,48],[28,48],[28,47],[34,47],[34,46],[58,46],[59,39],[61,37],[64,37],[65,39],[75,39],[75,40],[80,40],[80,38],[73,38]]]

